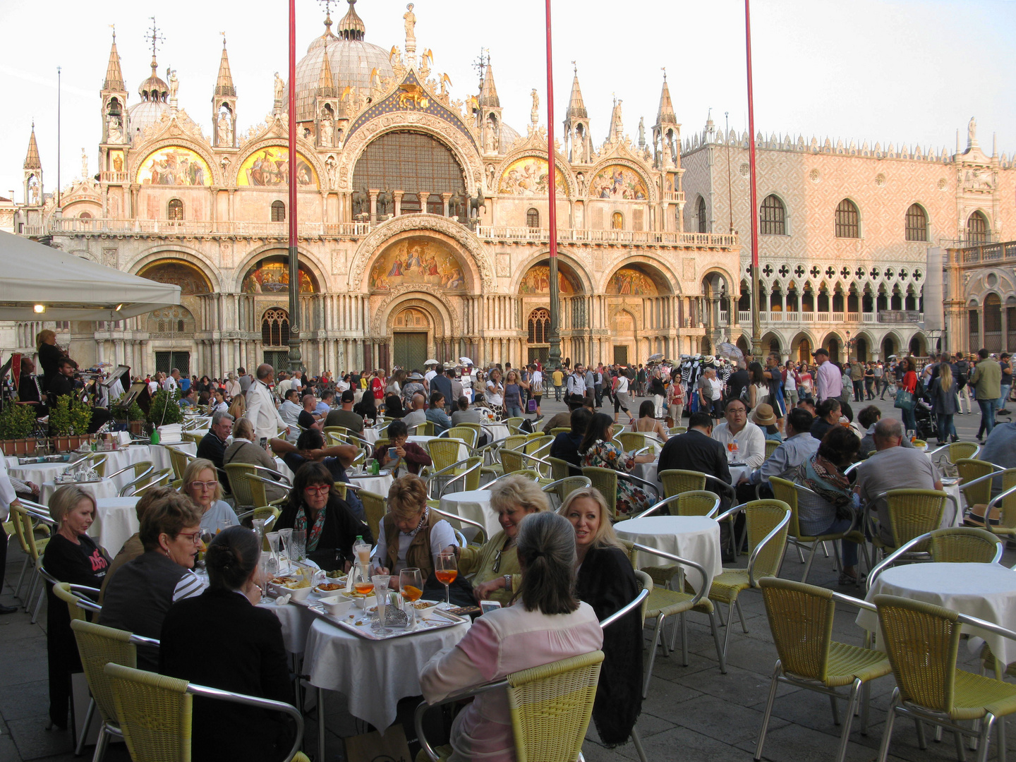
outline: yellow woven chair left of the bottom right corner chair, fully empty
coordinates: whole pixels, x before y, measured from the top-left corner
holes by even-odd
[[[853,710],[861,701],[862,686],[892,672],[889,659],[881,651],[862,648],[832,639],[832,621],[836,601],[868,608],[871,605],[825,587],[816,587],[788,579],[765,577],[759,580],[762,599],[769,619],[769,630],[776,646],[776,665],[769,685],[769,700],[762,715],[762,728],[755,745],[755,760],[762,759],[772,705],[780,683],[796,688],[824,693],[832,703],[832,718],[839,724],[836,699],[846,699],[843,733],[840,736],[836,762],[846,758],[846,745],[850,738]],[[847,695],[836,688],[849,686]],[[868,702],[861,707],[861,732],[868,728]]]

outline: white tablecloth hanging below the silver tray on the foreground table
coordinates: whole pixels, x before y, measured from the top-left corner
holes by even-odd
[[[307,634],[304,671],[311,685],[344,694],[353,716],[383,732],[395,721],[399,699],[423,693],[420,673],[431,656],[455,645],[468,629],[463,622],[373,641],[317,619]]]

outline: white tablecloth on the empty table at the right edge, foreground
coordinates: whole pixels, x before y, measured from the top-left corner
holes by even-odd
[[[951,609],[987,622],[1016,629],[1016,572],[999,564],[907,564],[886,569],[866,599],[899,595]],[[878,615],[862,610],[858,624],[874,632]],[[1016,642],[976,628],[964,632],[983,638],[1003,664],[1016,660]],[[876,643],[884,643],[884,637]]]

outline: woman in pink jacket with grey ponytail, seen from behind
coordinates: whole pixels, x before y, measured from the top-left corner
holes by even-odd
[[[420,676],[431,703],[470,686],[597,650],[602,630],[574,596],[575,530],[564,516],[532,513],[519,524],[522,582],[515,605],[473,624],[458,645],[433,656]],[[451,762],[513,762],[515,742],[504,690],[478,696],[451,726]]]

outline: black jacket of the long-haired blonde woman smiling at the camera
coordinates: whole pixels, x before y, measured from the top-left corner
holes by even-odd
[[[590,548],[578,570],[576,593],[604,620],[635,598],[638,580],[617,548]],[[623,744],[642,711],[642,611],[636,609],[604,630],[592,721],[607,747]]]

